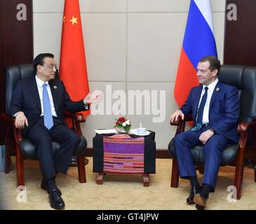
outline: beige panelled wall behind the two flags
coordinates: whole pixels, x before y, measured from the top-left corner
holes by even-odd
[[[60,58],[64,0],[34,0],[34,55],[53,52]],[[212,0],[217,53],[223,61],[224,0]],[[156,147],[166,149],[175,128],[170,113],[177,63],[187,21],[189,0],[80,0],[90,90],[112,84],[114,90],[166,90],[166,120],[128,116],[156,132]],[[158,91],[158,93],[159,93]],[[114,102],[115,100],[113,100]],[[96,128],[112,128],[116,115],[90,116],[82,125],[92,147]]]

